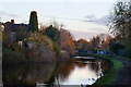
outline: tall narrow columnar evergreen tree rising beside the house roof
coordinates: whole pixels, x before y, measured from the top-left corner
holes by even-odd
[[[37,21],[37,12],[36,11],[31,12],[28,29],[32,33],[38,32],[38,21]]]

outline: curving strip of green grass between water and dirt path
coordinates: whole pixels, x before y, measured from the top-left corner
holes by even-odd
[[[98,54],[97,54],[98,55]],[[100,57],[100,55],[98,55]],[[103,77],[100,77],[94,85],[92,85],[91,87],[95,87],[95,86],[98,86],[98,87],[106,87],[107,85],[112,85],[112,83],[117,79],[118,77],[118,71],[120,67],[123,66],[122,62],[118,61],[118,60],[114,60],[114,59],[110,59],[106,57],[100,57],[100,58],[104,58],[104,59],[108,59],[110,60],[114,65],[111,66],[111,69],[105,73],[105,75]]]

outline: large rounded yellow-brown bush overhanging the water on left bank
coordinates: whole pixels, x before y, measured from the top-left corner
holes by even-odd
[[[56,55],[60,55],[59,46],[45,35],[31,33],[29,37],[25,38],[25,42],[29,47],[25,55],[32,62],[55,62]]]

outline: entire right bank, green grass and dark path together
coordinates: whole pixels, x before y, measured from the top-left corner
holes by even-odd
[[[129,62],[127,60],[118,59],[118,57],[99,55],[99,54],[95,54],[95,55],[110,60],[114,63],[114,65],[108,72],[105,73],[105,75],[103,77],[100,77],[91,87],[96,87],[96,86],[99,86],[99,87],[107,87],[107,86],[109,86],[109,87],[110,86],[129,87],[130,86],[131,62]]]

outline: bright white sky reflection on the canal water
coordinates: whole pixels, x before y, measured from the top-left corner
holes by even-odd
[[[68,77],[61,78],[60,76],[58,79],[56,79],[58,83],[55,83],[56,85],[81,85],[88,84],[88,85],[95,83],[97,78],[103,76],[103,70],[102,64],[107,64],[104,60],[90,60],[90,61],[75,61],[73,63],[73,71],[70,71],[70,74],[68,74]],[[108,66],[108,65],[107,65]],[[108,69],[108,67],[107,67]],[[91,83],[93,82],[93,83]]]

